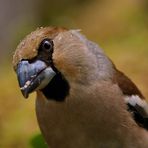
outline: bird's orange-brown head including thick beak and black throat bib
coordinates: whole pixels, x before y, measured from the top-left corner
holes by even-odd
[[[32,32],[21,41],[13,56],[23,96],[27,98],[39,90],[47,98],[63,100],[71,83],[95,81],[99,75],[96,56],[104,57],[102,50],[96,48],[78,30],[45,27]],[[100,76],[108,75],[104,69],[108,69],[109,62],[100,59]]]

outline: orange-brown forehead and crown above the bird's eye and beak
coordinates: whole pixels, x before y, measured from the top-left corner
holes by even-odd
[[[41,27],[27,35],[26,38],[22,40],[16,48],[15,54],[13,56],[14,69],[16,69],[16,65],[22,59],[32,59],[37,56],[39,43],[44,38],[53,39],[58,33],[63,31],[66,31],[66,29],[57,27]]]

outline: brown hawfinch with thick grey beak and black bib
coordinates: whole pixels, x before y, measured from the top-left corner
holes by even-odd
[[[37,28],[12,64],[49,148],[148,148],[145,97],[81,30]]]

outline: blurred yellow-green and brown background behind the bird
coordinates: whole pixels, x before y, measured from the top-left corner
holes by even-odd
[[[46,147],[36,121],[35,94],[23,99],[12,55],[28,33],[49,25],[82,29],[148,98],[147,0],[0,0],[2,148]]]

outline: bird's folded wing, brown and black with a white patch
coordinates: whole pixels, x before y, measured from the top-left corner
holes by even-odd
[[[148,130],[148,103],[136,85],[122,72],[117,70],[116,82],[125,95],[128,111],[139,126]]]

